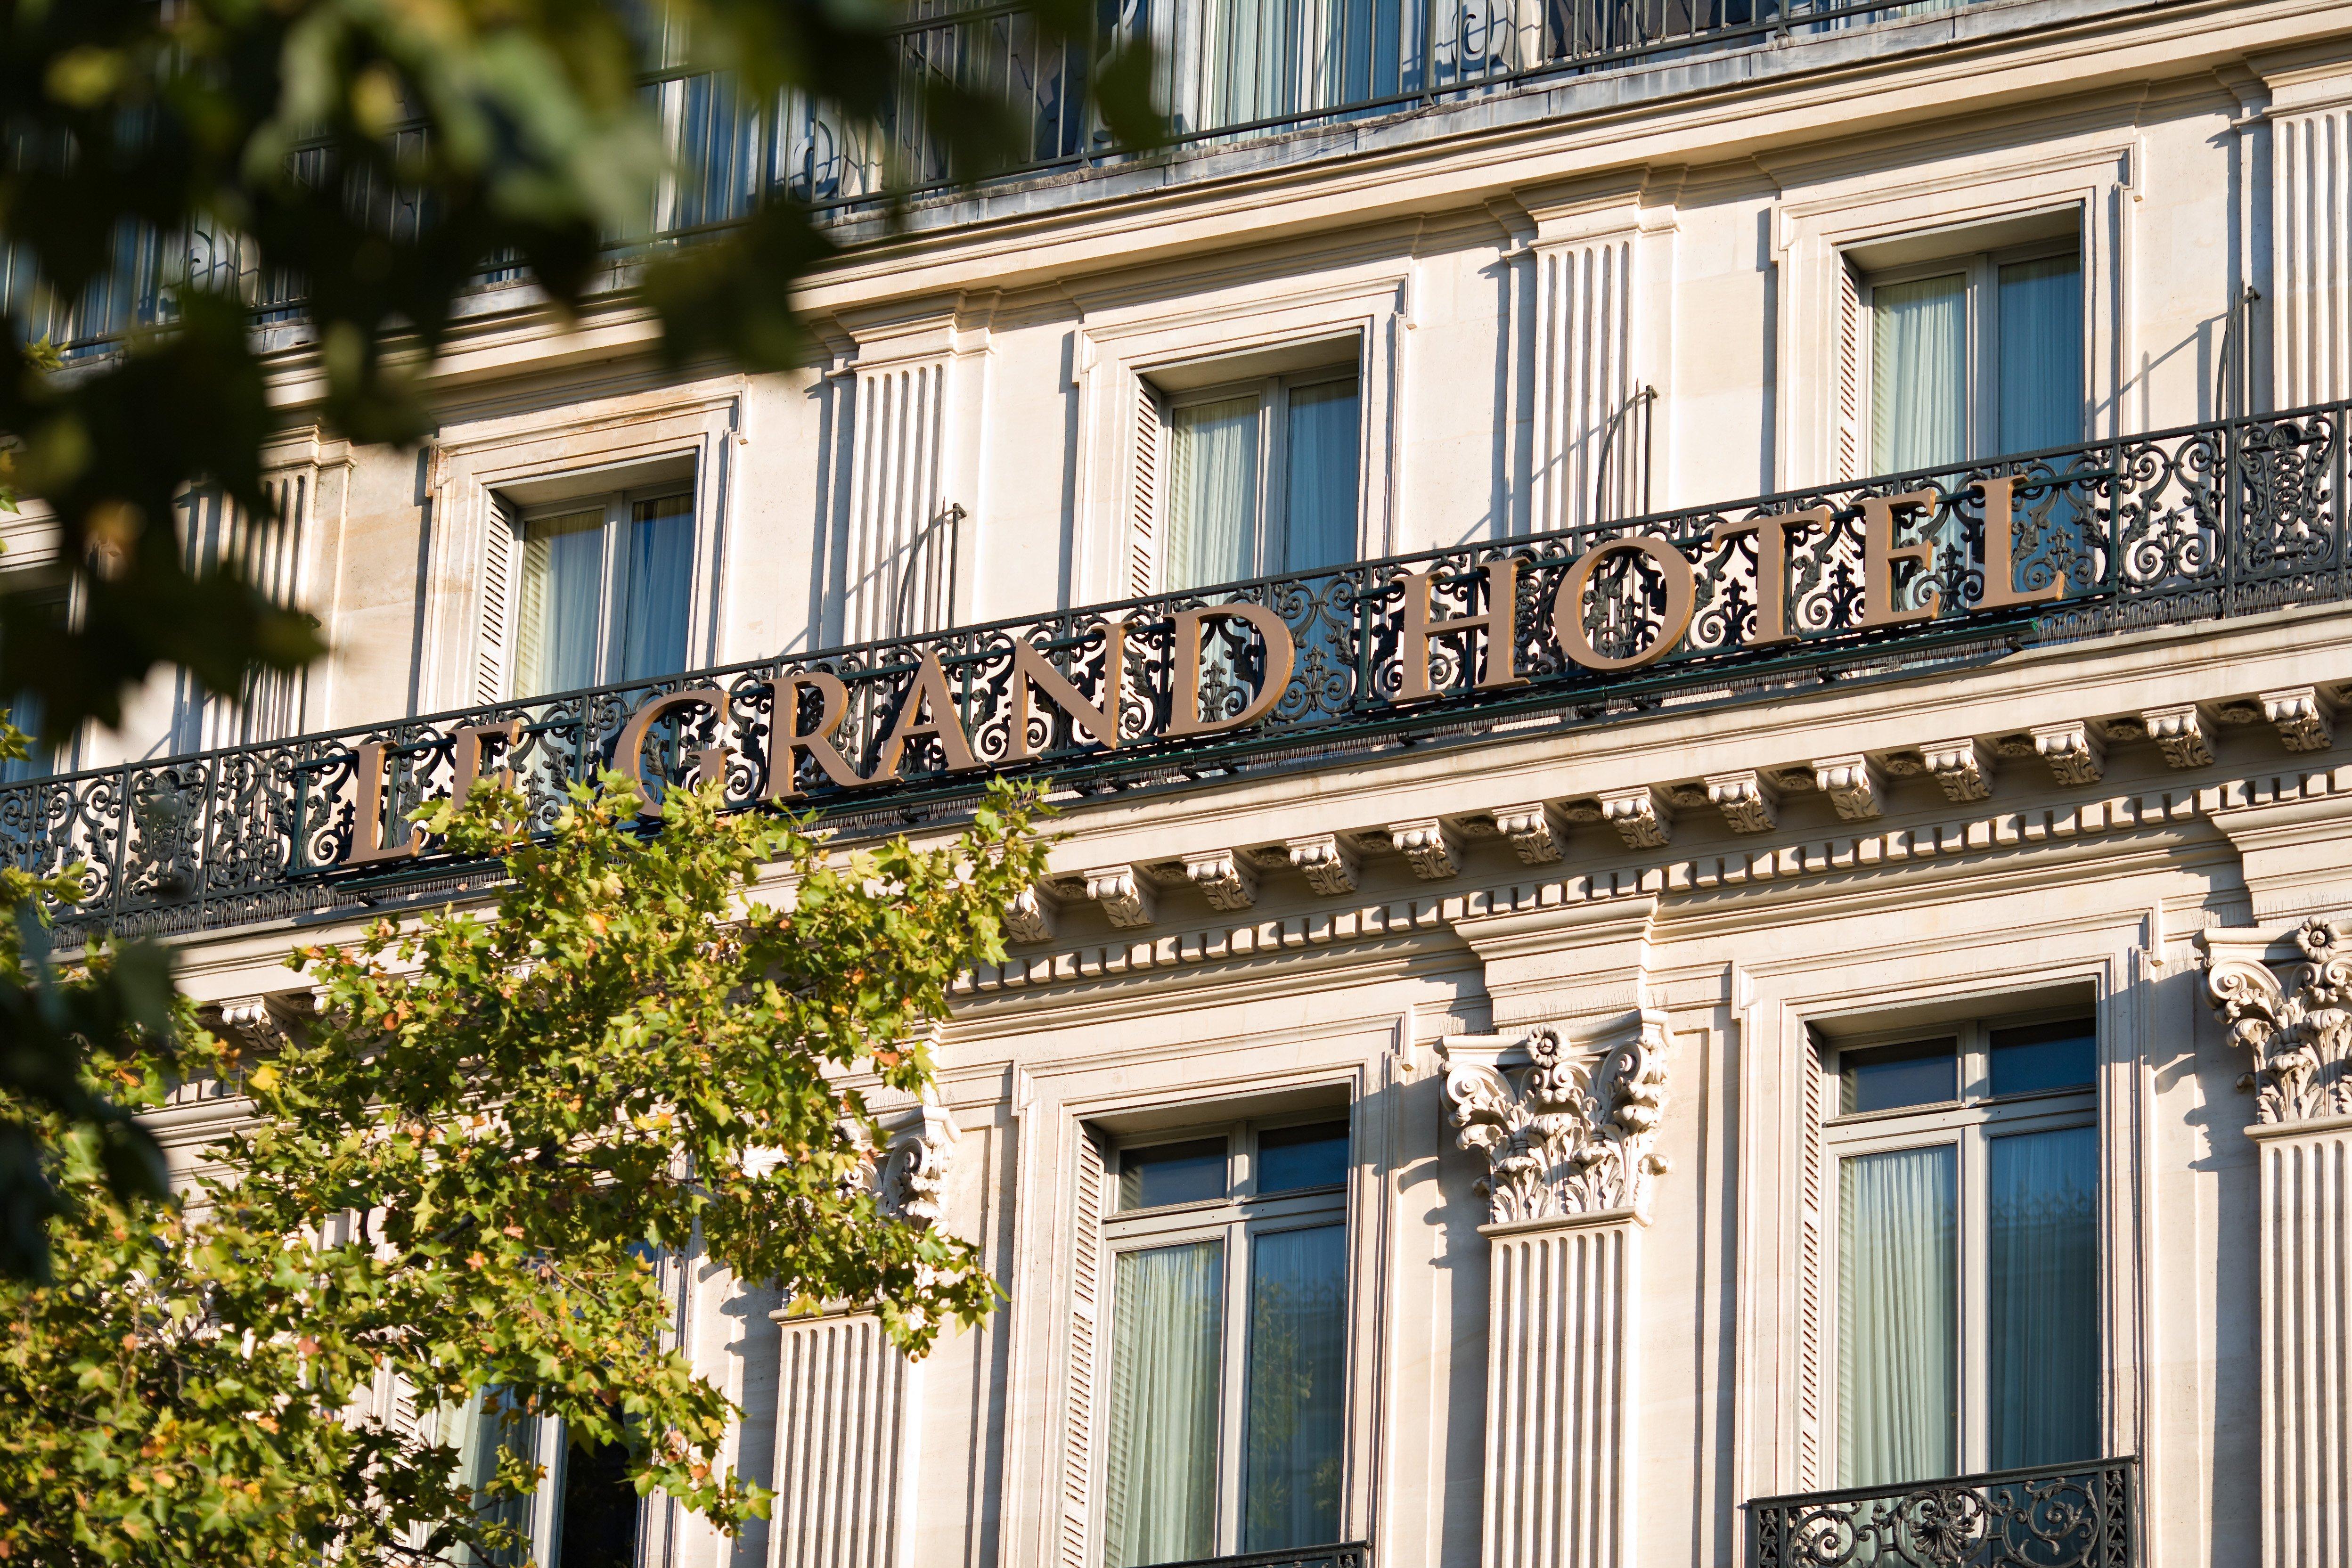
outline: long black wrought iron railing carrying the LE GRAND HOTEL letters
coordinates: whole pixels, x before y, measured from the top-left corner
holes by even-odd
[[[553,813],[602,766],[642,764],[661,788],[727,748],[729,804],[793,795],[856,832],[953,816],[983,771],[1063,797],[1183,785],[2340,602],[2347,416],[2338,402],[19,780],[0,785],[0,853],[87,867],[68,936],[238,926],[482,875],[430,844],[407,853],[405,813],[492,769]],[[2009,527],[1987,529],[1994,496]],[[1804,527],[1752,527],[1806,508]],[[1987,550],[2006,569],[1987,574]],[[1479,614],[1475,635],[1444,630]]]

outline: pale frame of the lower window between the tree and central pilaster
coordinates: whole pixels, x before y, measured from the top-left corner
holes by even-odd
[[[1256,1166],[1258,1166],[1258,1135],[1272,1131],[1287,1131],[1294,1126],[1327,1126],[1336,1124],[1348,1128],[1348,1173],[1343,1180],[1324,1187],[1298,1187],[1291,1192],[1256,1194]],[[1129,1152],[1152,1150],[1171,1143],[1200,1143],[1207,1138],[1225,1140],[1225,1197],[1221,1199],[1195,1199],[1190,1204],[1162,1204],[1157,1208],[1129,1208],[1117,1206],[1120,1168]],[[1096,1338],[1096,1387],[1105,1389],[1105,1396],[1096,1403],[1094,1418],[1094,1465],[1096,1486],[1089,1488],[1096,1497],[1096,1512],[1108,1509],[1108,1483],[1105,1469],[1112,1446],[1112,1406],[1108,1399],[1112,1380],[1112,1345],[1117,1340],[1115,1324],[1120,1314],[1117,1260],[1122,1253],[1141,1253],[1160,1246],[1185,1246],[1197,1241],[1218,1241],[1223,1248],[1218,1267],[1218,1366],[1216,1366],[1216,1497],[1211,1502],[1211,1556],[1232,1556],[1242,1552],[1244,1530],[1244,1486],[1247,1486],[1247,1455],[1249,1455],[1249,1267],[1251,1267],[1251,1241],[1256,1237],[1282,1234],[1289,1229],[1317,1229],[1338,1225],[1343,1239],[1345,1279],[1343,1286],[1352,1302],[1355,1295],[1355,1253],[1348,1246],[1355,1222],[1352,1222],[1352,1190],[1355,1190],[1355,1157],[1357,1157],[1357,1128],[1350,1107],[1319,1107],[1308,1112],[1287,1112],[1277,1117],[1251,1117],[1244,1121],[1209,1121],[1188,1124],[1171,1131],[1136,1133],[1131,1138],[1112,1138],[1110,1157],[1103,1161],[1103,1213],[1096,1225],[1094,1244],[1101,1248],[1101,1324],[1103,1331]],[[1352,1319],[1352,1314],[1350,1314]],[[1345,1335],[1345,1359],[1341,1366],[1341,1389],[1343,1394],[1352,1387],[1355,1378],[1355,1335]],[[1341,1516],[1348,1509],[1348,1483],[1345,1474],[1350,1469],[1348,1453],[1348,1429],[1341,1432]],[[1327,1542],[1305,1542],[1327,1544]],[[1101,1568],[1108,1554],[1108,1540],[1103,1537],[1101,1523],[1094,1533],[1094,1568]]]

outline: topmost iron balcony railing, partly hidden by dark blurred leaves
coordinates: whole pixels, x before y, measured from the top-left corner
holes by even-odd
[[[1000,99],[1018,127],[1009,174],[1129,158],[1087,108],[1087,82],[1122,40],[1157,49],[1155,96],[1178,146],[1399,113],[1472,94],[1604,71],[1677,49],[1733,47],[1764,35],[1828,35],[1872,21],[1957,9],[1971,0],[1105,0],[1091,40],[1040,35],[1021,0],[910,0],[894,28],[906,92],[880,122],[786,94],[760,101],[729,73],[670,63],[640,92],[661,120],[673,174],[642,221],[609,237],[614,261],[689,242],[776,197],[851,209],[922,195],[957,169],[922,113],[915,82],[955,82]],[[652,40],[649,59],[682,59]],[[409,127],[397,136],[421,136]],[[1155,153],[1157,155],[1157,153]],[[303,179],[325,179],[322,150],[294,153]],[[348,176],[355,209],[386,235],[426,223],[414,193]],[[492,259],[482,282],[520,270]],[[612,284],[626,284],[614,268]],[[21,247],[0,242],[0,317],[68,355],[94,353],[136,327],[176,320],[181,294],[228,292],[256,320],[301,315],[303,280],[263,270],[228,230],[160,233],[125,226],[115,256],[78,296],[52,296]]]

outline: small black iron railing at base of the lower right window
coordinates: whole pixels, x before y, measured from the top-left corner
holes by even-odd
[[[2138,1568],[2138,1460],[1748,1505],[1748,1568]]]

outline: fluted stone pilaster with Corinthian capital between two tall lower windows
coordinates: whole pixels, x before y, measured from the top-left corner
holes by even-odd
[[[1484,1568],[1632,1563],[1642,1232],[1665,1016],[1454,1034],[1446,1100],[1486,1157]]]

